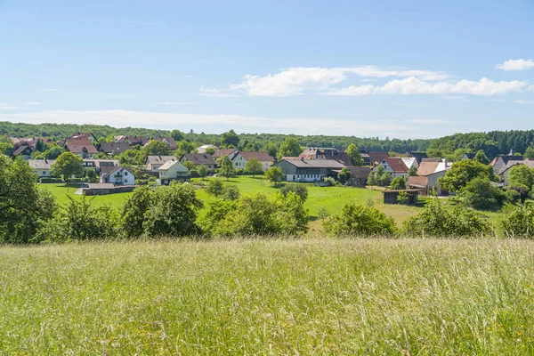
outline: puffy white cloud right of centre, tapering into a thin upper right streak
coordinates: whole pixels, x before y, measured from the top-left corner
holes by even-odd
[[[306,92],[327,91],[331,85],[344,82],[349,75],[358,77],[417,77],[420,80],[444,80],[443,72],[408,69],[380,69],[375,66],[348,68],[294,67],[277,74],[253,76],[247,74],[239,84],[227,88],[200,88],[200,93],[211,96],[295,96]]]

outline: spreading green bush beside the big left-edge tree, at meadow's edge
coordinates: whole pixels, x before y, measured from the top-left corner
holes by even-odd
[[[95,207],[92,199],[69,197],[69,205],[61,208],[53,220],[37,234],[41,241],[66,242],[69,240],[116,239],[116,213],[109,206]]]

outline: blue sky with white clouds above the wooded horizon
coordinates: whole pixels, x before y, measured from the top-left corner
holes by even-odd
[[[0,0],[0,121],[416,139],[533,119],[531,0]]]

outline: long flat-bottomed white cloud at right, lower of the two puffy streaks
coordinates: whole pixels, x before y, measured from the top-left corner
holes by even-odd
[[[506,93],[521,93],[526,90],[529,83],[518,80],[510,82],[494,82],[488,78],[479,81],[460,80],[457,82],[425,82],[417,77],[393,79],[382,86],[360,85],[348,86],[331,90],[328,95],[370,95],[370,94],[470,94],[470,95],[501,95]]]

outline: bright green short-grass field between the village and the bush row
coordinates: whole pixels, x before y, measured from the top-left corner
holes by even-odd
[[[198,179],[196,180],[198,181]],[[208,182],[209,178],[203,182]],[[272,188],[271,183],[264,180],[259,176],[252,178],[250,176],[240,176],[232,178],[227,184],[235,184],[239,187],[242,194],[263,192],[268,196],[276,194],[278,189]],[[348,202],[356,202],[365,204],[369,199],[373,201],[375,206],[384,211],[385,214],[392,216],[398,224],[401,224],[409,216],[417,214],[418,208],[413,206],[393,206],[384,205],[382,203],[382,193],[379,190],[368,190],[361,188],[349,188],[349,187],[328,187],[321,188],[316,187],[313,184],[306,184],[309,190],[309,196],[306,201],[305,207],[309,210],[312,222],[312,231],[321,229],[320,222],[316,221],[317,213],[321,207],[327,209],[328,213],[336,214],[341,210],[344,204]],[[64,205],[69,202],[67,196],[79,199],[80,195],[75,195],[76,188],[69,188],[69,194],[65,184],[41,184],[41,189],[49,190],[53,196],[57,199],[57,202]],[[112,194],[107,196],[97,196],[93,198],[93,202],[96,205],[111,205],[120,207],[124,204],[126,198],[132,193]],[[205,209],[200,212],[200,216],[206,213],[209,202],[213,199],[207,195],[206,190],[197,190],[198,198],[205,202]]]

